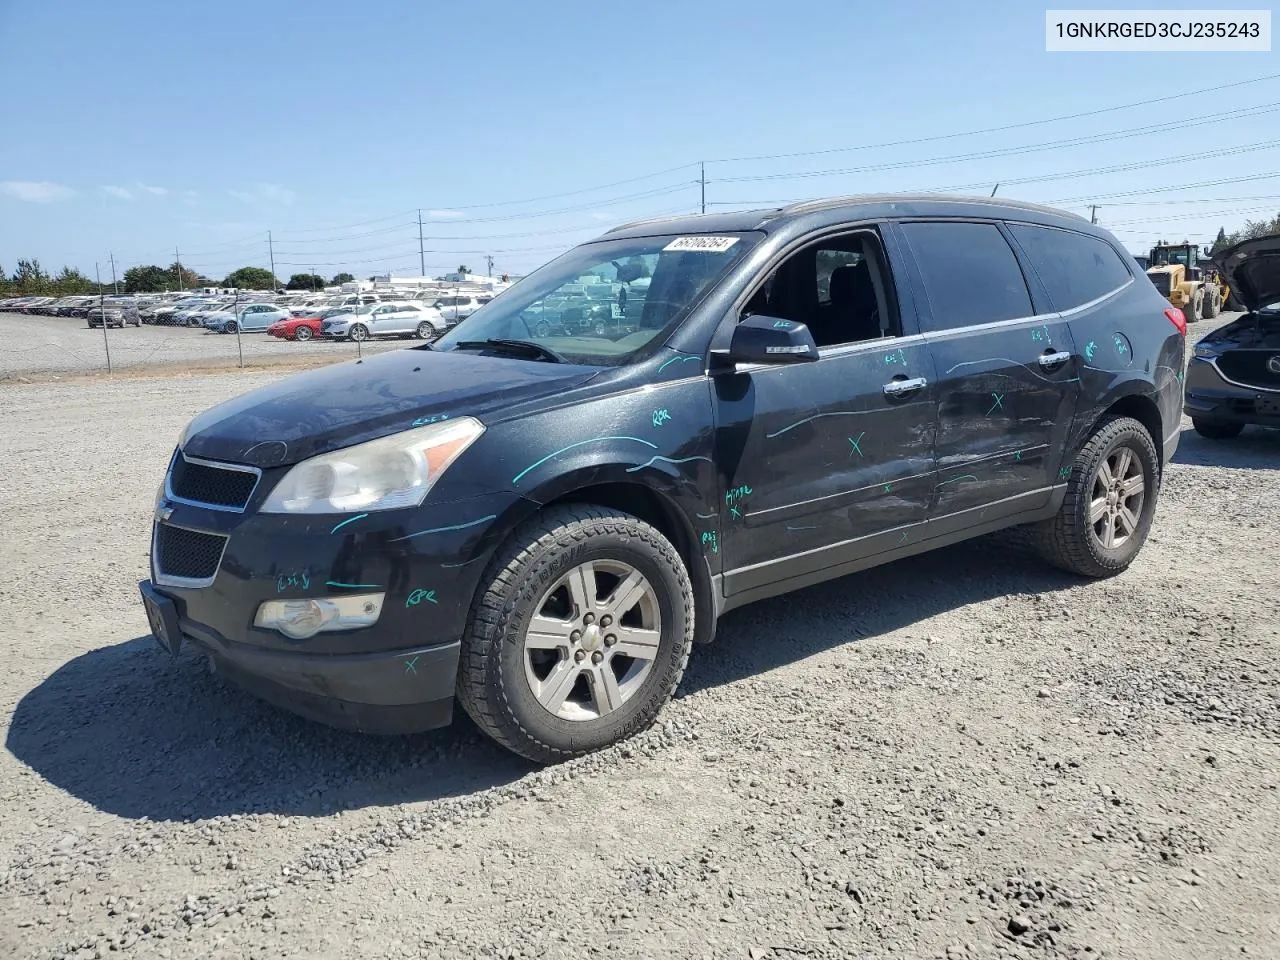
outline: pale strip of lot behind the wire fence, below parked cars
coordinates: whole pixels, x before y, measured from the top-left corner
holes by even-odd
[[[0,314],[0,381],[47,374],[106,372],[106,353],[113,370],[140,367],[238,366],[239,351],[248,367],[306,365],[356,356],[355,343],[278,340],[265,333],[239,338],[186,326],[111,328],[102,342],[101,328],[88,328],[70,316]],[[361,347],[380,353],[412,346],[410,340],[380,340]]]

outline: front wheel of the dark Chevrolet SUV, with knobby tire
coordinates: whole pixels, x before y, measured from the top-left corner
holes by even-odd
[[[594,621],[564,584],[588,563],[595,568],[596,596],[588,604],[595,605]],[[612,594],[632,576],[643,577],[643,586],[631,590],[639,599],[613,608],[618,623],[611,625],[612,596],[600,600],[599,593]],[[654,722],[684,676],[694,637],[689,572],[671,543],[637,517],[588,504],[552,508],[512,534],[485,584],[462,639],[458,703],[485,733],[521,756],[556,763],[626,740]],[[577,593],[586,596],[585,589]],[[540,632],[541,644],[526,646],[539,612],[548,623],[562,625]],[[648,634],[655,645],[620,641],[611,626],[637,639]],[[549,645],[556,639],[563,643]],[[623,646],[645,655],[632,658]],[[605,672],[612,684],[598,685]]]

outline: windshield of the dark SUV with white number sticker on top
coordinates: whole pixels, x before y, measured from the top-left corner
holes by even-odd
[[[483,305],[433,349],[454,349],[466,340],[521,339],[538,340],[573,364],[625,364],[666,339],[759,237],[584,243]]]

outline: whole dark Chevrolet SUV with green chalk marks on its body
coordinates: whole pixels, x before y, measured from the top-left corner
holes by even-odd
[[[534,337],[618,264],[649,279],[631,329]],[[557,760],[653,722],[753,600],[1014,525],[1068,571],[1124,570],[1185,334],[1111,234],[1041,206],[630,224],[433,344],[197,416],[142,596],[161,646],[305,716],[419,731],[457,698]]]

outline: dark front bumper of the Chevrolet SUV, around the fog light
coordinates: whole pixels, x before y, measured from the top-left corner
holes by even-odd
[[[502,494],[352,518],[164,500],[152,527],[151,579],[140,585],[152,632],[159,640],[150,616],[159,605],[172,613],[164,631],[172,653],[191,645],[248,692],[330,726],[367,733],[445,726],[460,640],[494,547],[492,524],[511,502]],[[161,524],[225,538],[212,576],[165,575]],[[294,640],[255,626],[268,600],[375,593],[383,607],[369,627]]]

